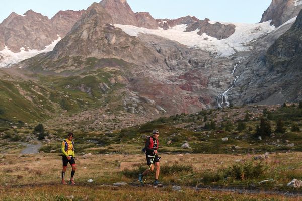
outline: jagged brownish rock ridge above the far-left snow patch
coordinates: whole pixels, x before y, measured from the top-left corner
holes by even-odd
[[[42,50],[46,45],[58,38],[58,34],[64,37],[81,17],[82,11],[60,11],[53,19],[27,11],[24,16],[11,13],[0,24],[0,50],[6,45],[13,52],[20,52],[23,47]]]

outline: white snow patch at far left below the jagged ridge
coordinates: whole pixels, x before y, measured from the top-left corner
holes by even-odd
[[[0,51],[0,68],[10,67],[12,64],[18,63],[43,52],[50,52],[60,40],[61,37],[58,37],[58,39],[52,41],[50,45],[46,45],[45,49],[43,50],[29,49],[28,51],[25,51],[25,48],[21,47],[20,52],[17,53],[12,52],[7,46],[5,46],[4,50]],[[2,57],[3,59],[1,60]]]

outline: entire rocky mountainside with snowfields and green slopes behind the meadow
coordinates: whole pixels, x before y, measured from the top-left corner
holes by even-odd
[[[302,0],[259,23],[154,19],[102,0],[0,24],[0,118],[115,130],[203,109],[302,100]]]

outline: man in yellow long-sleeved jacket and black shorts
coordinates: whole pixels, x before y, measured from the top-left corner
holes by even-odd
[[[73,180],[73,176],[74,176],[74,173],[75,173],[75,169],[77,169],[77,168],[75,167],[75,161],[74,161],[74,142],[73,142],[72,139],[73,139],[73,133],[68,133],[68,138],[65,139],[62,142],[62,145],[61,145],[62,161],[63,161],[63,170],[62,170],[62,184],[63,185],[67,184],[65,182],[64,177],[65,177],[65,172],[67,170],[68,162],[69,162],[69,164],[72,167],[71,177],[70,177],[69,183],[71,185],[75,185],[75,182]]]

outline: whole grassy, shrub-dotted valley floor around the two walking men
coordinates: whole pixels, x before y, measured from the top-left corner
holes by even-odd
[[[301,190],[287,183],[302,179],[301,125],[302,103],[177,114],[110,132],[74,127],[77,185],[63,186],[60,143],[68,131],[2,119],[0,200],[299,200]],[[158,188],[152,174],[143,187],[137,181],[153,129],[160,131]],[[21,154],[19,142],[37,140],[39,153]]]

